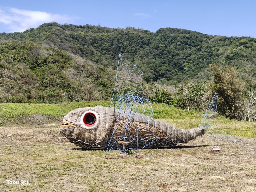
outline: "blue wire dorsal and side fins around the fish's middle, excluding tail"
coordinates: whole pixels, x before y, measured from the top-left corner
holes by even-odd
[[[151,102],[139,96],[142,90],[142,71],[119,54],[114,93],[110,107],[115,108],[116,124],[108,144],[106,155],[112,149],[122,154],[134,150],[136,154],[154,142],[154,118]],[[138,121],[143,115],[145,123]],[[144,117],[145,116],[145,117]],[[134,136],[136,135],[136,136]],[[118,145],[117,145],[118,143]],[[119,147],[118,147],[119,146]]]

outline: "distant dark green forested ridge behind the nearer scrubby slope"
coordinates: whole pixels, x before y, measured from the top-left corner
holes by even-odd
[[[209,64],[235,66],[248,79],[256,77],[256,39],[210,36],[176,28],[156,33],[127,27],[45,23],[23,33],[1,34],[17,40],[30,40],[114,68],[119,53],[136,63],[144,80],[178,84],[191,78],[205,79]]]

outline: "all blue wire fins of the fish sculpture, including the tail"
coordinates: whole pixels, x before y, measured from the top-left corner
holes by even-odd
[[[110,150],[122,154],[134,150],[136,154],[154,142],[154,114],[151,102],[139,96],[142,90],[142,71],[119,54],[114,93],[110,107],[115,108],[115,125],[111,132],[106,155]],[[215,94],[200,124],[205,135],[233,142],[245,143],[217,126],[218,95]],[[151,116],[152,119],[148,119]],[[143,122],[143,124],[141,124]]]

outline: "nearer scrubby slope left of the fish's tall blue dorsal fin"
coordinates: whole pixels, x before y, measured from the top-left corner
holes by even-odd
[[[31,41],[0,44],[0,102],[57,103],[104,100],[114,71]]]

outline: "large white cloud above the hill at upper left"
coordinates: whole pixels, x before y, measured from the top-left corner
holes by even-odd
[[[52,14],[42,11],[22,10],[0,7],[0,23],[3,23],[10,32],[23,32],[28,28],[36,28],[43,23],[72,22],[73,18],[67,15]]]

